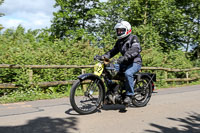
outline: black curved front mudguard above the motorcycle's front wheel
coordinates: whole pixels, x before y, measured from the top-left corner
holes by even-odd
[[[103,81],[101,80],[101,78],[93,73],[85,73],[85,74],[82,74],[82,75],[79,75],[78,76],[78,79],[79,80],[85,80],[85,79],[89,79],[89,78],[92,78],[92,79],[98,79],[99,80],[99,83],[100,85],[102,86],[102,89],[103,89],[103,98],[105,97],[105,86],[104,86],[104,83]],[[103,99],[104,100],[104,99]]]

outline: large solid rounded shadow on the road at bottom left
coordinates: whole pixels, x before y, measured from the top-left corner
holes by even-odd
[[[69,133],[78,132],[78,120],[75,117],[42,117],[28,121],[20,126],[0,126],[0,133]]]

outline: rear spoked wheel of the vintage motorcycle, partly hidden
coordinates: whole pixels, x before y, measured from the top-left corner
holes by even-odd
[[[135,84],[135,97],[133,104],[136,107],[144,107],[149,102],[152,94],[152,86],[148,78],[142,78]]]

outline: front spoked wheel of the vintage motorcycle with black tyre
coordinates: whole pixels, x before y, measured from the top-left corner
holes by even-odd
[[[70,92],[70,103],[79,114],[95,112],[103,101],[103,88],[99,79],[77,80]]]

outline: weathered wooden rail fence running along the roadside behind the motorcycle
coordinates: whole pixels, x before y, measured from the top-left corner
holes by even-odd
[[[22,69],[22,68],[28,68],[28,75],[29,75],[29,83],[30,85],[37,85],[39,87],[50,87],[50,86],[58,86],[58,85],[68,85],[73,84],[74,80],[68,80],[68,81],[53,81],[53,82],[40,82],[37,84],[32,84],[33,80],[33,69],[69,69],[69,68],[80,68],[82,69],[82,73],[85,73],[85,68],[93,68],[94,65],[83,65],[83,66],[77,66],[77,65],[8,65],[8,64],[0,64],[0,69],[9,68],[9,69]],[[176,82],[176,81],[193,81],[200,79],[200,74],[197,73],[195,77],[189,77],[189,72],[191,71],[197,71],[200,70],[200,67],[196,68],[190,68],[190,69],[172,69],[172,68],[163,68],[163,67],[142,67],[142,71],[144,70],[155,70],[155,71],[164,71],[164,79],[157,79],[157,81],[166,81],[166,82]],[[169,72],[184,72],[185,78],[174,78],[170,79],[168,78]],[[20,85],[15,85],[12,83],[2,83],[0,84],[0,89],[3,88],[18,88]]]

